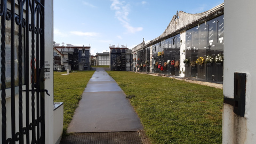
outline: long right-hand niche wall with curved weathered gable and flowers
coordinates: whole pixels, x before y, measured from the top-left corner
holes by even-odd
[[[203,13],[177,12],[161,36],[133,47],[133,71],[222,82],[223,14],[224,3]]]

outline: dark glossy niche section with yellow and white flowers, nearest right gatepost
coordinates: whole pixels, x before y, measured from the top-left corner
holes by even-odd
[[[223,81],[223,15],[186,31],[185,77]]]

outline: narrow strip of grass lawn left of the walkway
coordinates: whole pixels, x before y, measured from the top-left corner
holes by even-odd
[[[63,135],[66,135],[82,93],[94,71],[77,71],[77,73],[54,71],[54,102],[64,102]]]

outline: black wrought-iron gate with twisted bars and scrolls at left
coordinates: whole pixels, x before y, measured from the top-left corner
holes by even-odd
[[[0,8],[1,142],[45,143],[44,0],[1,0]],[[9,97],[11,110],[6,110]],[[11,113],[10,118],[6,116],[8,113]],[[9,127],[6,118],[7,123],[11,121]]]

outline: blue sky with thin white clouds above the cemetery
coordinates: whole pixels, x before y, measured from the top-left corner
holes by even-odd
[[[129,49],[161,35],[177,11],[201,13],[224,0],[54,0],[53,40],[91,45],[91,54],[110,45]],[[62,44],[60,44],[62,45]]]

